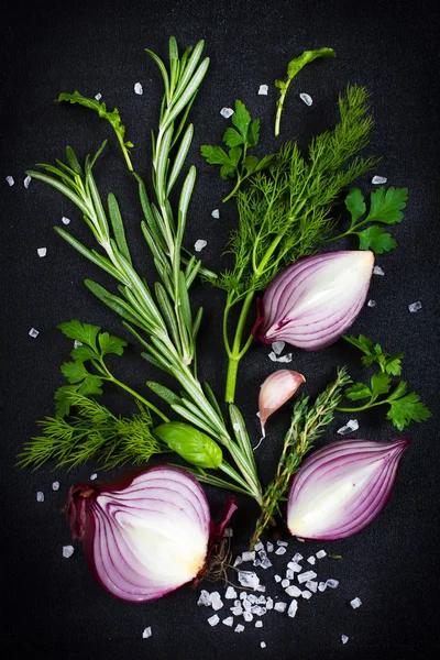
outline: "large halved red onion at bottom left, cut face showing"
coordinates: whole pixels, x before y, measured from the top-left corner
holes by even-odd
[[[92,574],[124,601],[160,598],[205,565],[212,531],[208,501],[185,470],[163,465],[109,484],[78,484],[66,510]]]

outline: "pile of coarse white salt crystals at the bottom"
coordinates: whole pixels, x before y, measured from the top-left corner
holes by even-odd
[[[273,566],[270,554],[286,556],[286,561],[284,571],[279,571],[284,572],[284,575],[273,574],[273,582],[267,586],[261,583],[261,576],[252,569],[266,571]],[[330,593],[339,586],[339,581],[334,578],[326,576],[322,580],[318,578],[317,571],[321,569],[320,560],[326,557],[326,550],[319,550],[307,559],[299,552],[290,557],[286,541],[276,541],[276,543],[267,541],[266,544],[258,542],[254,550],[244,551],[234,560],[233,566],[238,569],[237,580],[240,586],[230,584],[222,594],[220,591],[208,592],[202,588],[197,605],[213,610],[207,619],[211,627],[222,623],[234,632],[243,632],[249,628],[263,628],[268,620],[264,617],[268,613],[276,613],[276,615],[270,614],[270,618],[280,615],[295,618],[302,607],[302,601],[309,601],[316,594],[327,590]],[[274,557],[273,560],[275,561]],[[275,594],[271,587],[278,592],[280,587],[283,595]],[[350,605],[352,608],[359,607],[360,598],[353,598]],[[341,635],[340,639],[342,644],[346,644],[349,638],[346,635]],[[265,648],[265,646],[262,641],[261,647]]]

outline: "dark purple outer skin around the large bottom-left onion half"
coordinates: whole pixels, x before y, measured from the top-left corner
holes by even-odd
[[[161,471],[163,469],[165,469],[167,473],[172,473],[172,472],[184,473],[185,476],[189,481],[191,481],[195,485],[197,485],[197,488],[199,490],[199,492],[201,493],[202,497],[206,501],[205,493],[204,493],[199,482],[190,473],[186,472],[185,470],[183,470],[180,468],[173,468],[169,465],[157,465],[154,468],[148,468],[146,470],[145,469],[132,470],[132,471],[125,472],[124,474],[118,476],[117,479],[114,479],[113,481],[108,482],[108,483],[100,483],[100,482],[79,483],[69,490],[68,501],[67,501],[67,505],[65,507],[65,513],[67,514],[67,518],[68,518],[68,521],[70,525],[73,540],[74,541],[75,540],[82,541],[82,548],[84,548],[86,563],[89,569],[89,572],[95,578],[95,580],[113,597],[129,601],[132,603],[144,603],[147,601],[152,601],[152,600],[156,600],[156,598],[166,596],[166,595],[173,593],[174,591],[178,590],[180,586],[183,586],[180,584],[180,585],[175,586],[174,588],[166,588],[166,590],[158,588],[156,593],[153,593],[153,595],[148,595],[145,597],[122,597],[108,588],[108,586],[105,584],[105,582],[100,578],[100,574],[97,570],[96,561],[95,561],[94,541],[95,541],[95,535],[96,535],[97,528],[96,528],[96,520],[95,520],[95,514],[92,513],[92,508],[94,508],[94,503],[95,503],[97,496],[100,494],[107,494],[107,493],[112,493],[112,492],[116,493],[116,492],[124,491],[132,484],[132,482],[135,477],[138,477],[144,473],[147,473],[147,472],[156,472],[156,471]],[[208,508],[207,501],[206,501],[206,506]],[[230,497],[227,503],[224,520],[220,524],[220,526],[222,526],[221,531],[224,528],[224,526],[228,524],[231,515],[234,513],[235,509],[237,509],[237,506],[234,505],[234,498]],[[207,561],[208,556],[209,556],[209,549],[211,549],[211,547],[212,547],[212,539],[215,536],[217,536],[218,528],[216,528],[213,526],[210,516],[206,518],[206,522],[209,526],[209,542],[207,544],[207,557],[206,557],[206,561]],[[205,565],[204,565],[204,568],[205,568]],[[202,570],[200,572],[202,572]],[[198,579],[198,575],[196,575],[194,578],[195,581],[197,581],[197,579]]]

